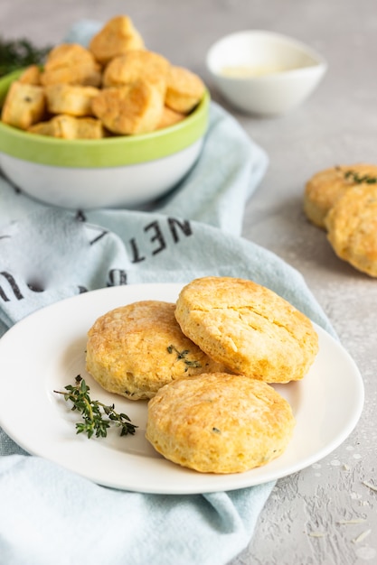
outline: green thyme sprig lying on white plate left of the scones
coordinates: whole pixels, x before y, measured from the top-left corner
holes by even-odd
[[[135,433],[137,426],[131,423],[127,414],[116,412],[114,404],[108,406],[98,400],[91,400],[90,386],[80,375],[76,376],[75,382],[75,385],[67,384],[67,386],[64,386],[67,391],[65,393],[62,391],[53,392],[63,394],[64,400],[71,401],[73,404],[71,410],[77,410],[81,413],[83,421],[76,423],[76,433],[86,433],[88,438],[91,438],[94,434],[96,438],[106,438],[110,426],[119,427],[121,436]]]

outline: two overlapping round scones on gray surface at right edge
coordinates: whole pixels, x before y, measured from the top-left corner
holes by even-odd
[[[327,231],[335,254],[377,277],[377,165],[336,166],[306,183],[306,217]]]

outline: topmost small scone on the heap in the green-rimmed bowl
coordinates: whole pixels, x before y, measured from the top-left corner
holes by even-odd
[[[127,15],[109,20],[90,42],[90,51],[101,64],[127,51],[143,48],[143,38]]]

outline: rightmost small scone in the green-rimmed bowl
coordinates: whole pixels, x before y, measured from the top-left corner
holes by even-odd
[[[165,105],[175,112],[188,114],[199,104],[205,91],[203,80],[191,70],[170,66]]]

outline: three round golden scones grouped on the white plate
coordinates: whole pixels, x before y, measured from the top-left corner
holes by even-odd
[[[111,310],[89,331],[87,369],[106,390],[148,401],[146,439],[201,472],[265,465],[295,418],[275,383],[302,379],[318,351],[310,320],[275,292],[203,277],[176,303]]]

